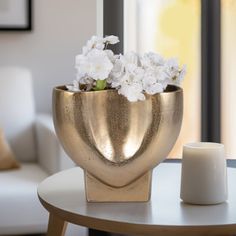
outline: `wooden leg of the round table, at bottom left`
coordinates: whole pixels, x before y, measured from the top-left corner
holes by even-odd
[[[64,236],[67,222],[50,213],[47,236]]]

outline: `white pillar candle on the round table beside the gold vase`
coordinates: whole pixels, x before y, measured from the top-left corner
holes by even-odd
[[[218,204],[227,200],[224,145],[189,143],[183,147],[181,199],[191,204]]]

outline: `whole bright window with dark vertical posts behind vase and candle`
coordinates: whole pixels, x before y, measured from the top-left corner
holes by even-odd
[[[183,143],[202,140],[223,142],[236,158],[236,1],[118,0],[110,3],[116,16],[108,20],[109,2],[104,19],[110,31],[104,27],[104,34],[119,35],[120,49],[152,50],[187,64],[183,127],[170,157],[181,156]]]

